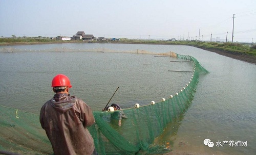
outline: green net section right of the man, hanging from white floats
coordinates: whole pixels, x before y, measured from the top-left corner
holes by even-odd
[[[154,141],[173,119],[187,110],[196,93],[199,74],[208,72],[193,57],[177,57],[194,62],[195,67],[189,82],[176,94],[139,108],[94,112],[96,124],[89,130],[100,154],[161,154],[171,150],[172,142],[159,145]],[[122,126],[118,126],[118,119],[111,118],[120,111],[126,116]]]

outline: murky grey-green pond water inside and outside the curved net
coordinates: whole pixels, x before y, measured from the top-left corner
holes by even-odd
[[[191,107],[177,119],[177,132],[166,134],[163,139],[172,139],[174,150],[190,153],[256,152],[256,65],[180,45],[79,43],[12,47],[144,49],[193,56],[210,73],[200,76]],[[53,96],[51,80],[58,73],[70,77],[73,85],[70,93],[86,101],[93,110],[101,110],[118,86],[111,103],[122,108],[132,107],[136,102],[148,104],[151,100],[159,101],[175,94],[190,79],[189,72],[168,70],[191,70],[192,65],[171,60],[176,59],[124,53],[0,53],[0,104],[39,114],[40,107]],[[205,146],[206,138],[215,146]],[[234,141],[233,146],[229,146],[231,141]],[[247,146],[239,146],[241,141],[247,142]],[[218,146],[217,142],[222,142],[223,146]]]

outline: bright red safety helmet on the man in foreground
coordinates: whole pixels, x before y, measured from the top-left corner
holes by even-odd
[[[52,79],[52,87],[61,87],[61,86],[68,86],[69,88],[72,87],[68,76],[63,74],[57,74]]]

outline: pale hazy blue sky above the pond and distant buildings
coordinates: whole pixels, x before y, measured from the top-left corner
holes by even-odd
[[[256,42],[255,0],[0,0],[0,37],[231,41],[233,25],[234,42]]]

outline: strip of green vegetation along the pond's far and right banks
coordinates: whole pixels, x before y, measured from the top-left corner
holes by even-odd
[[[1,45],[13,45],[13,44],[36,44],[36,43],[82,43],[88,41],[64,41],[64,40],[52,40],[49,37],[18,37],[13,38],[0,38]],[[133,43],[133,44],[166,44],[166,45],[188,45],[203,49],[216,49],[238,55],[250,55],[256,56],[256,45],[243,45],[240,43],[221,43],[221,42],[204,42],[204,41],[166,41],[166,40],[141,40],[141,39],[127,39],[121,38],[118,41],[90,41],[91,43]]]

